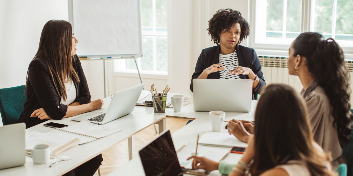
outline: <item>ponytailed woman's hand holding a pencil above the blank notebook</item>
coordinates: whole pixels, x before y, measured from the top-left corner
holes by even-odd
[[[246,131],[244,125],[239,120],[231,120],[228,123],[228,133],[233,134],[237,139],[248,143],[251,134]]]

